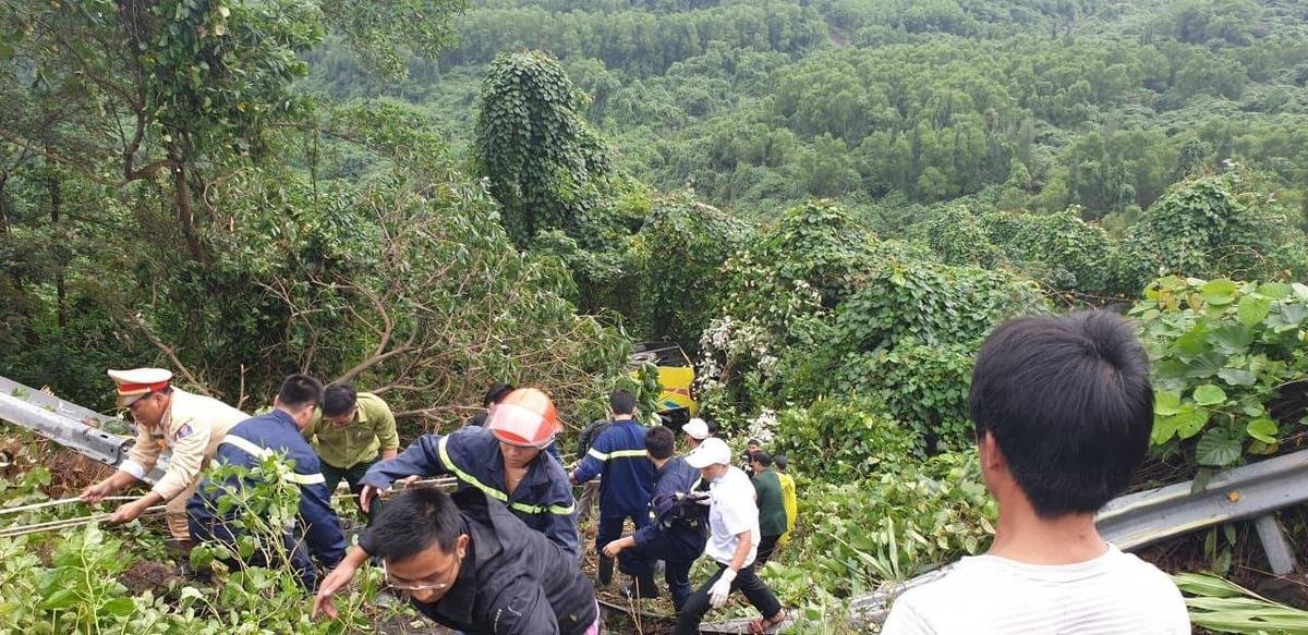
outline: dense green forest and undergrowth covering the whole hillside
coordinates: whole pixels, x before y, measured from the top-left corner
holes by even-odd
[[[1308,3],[0,0],[0,374],[95,409],[109,367],[250,409],[309,371],[382,393],[407,442],[509,380],[572,431],[615,384],[649,400],[632,345],[675,341],[706,415],[791,456],[802,520],[764,575],[814,628],[985,549],[967,396],[1007,318],[1135,320],[1137,489],[1304,439]],[[0,619],[25,632],[379,614],[364,593],[310,622],[285,571],[128,591],[115,554],[160,559],[146,532],[24,540],[0,538]],[[1253,544],[1198,540],[1179,567]]]

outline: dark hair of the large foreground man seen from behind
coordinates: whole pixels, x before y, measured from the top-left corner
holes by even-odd
[[[1011,320],[977,353],[971,410],[977,439],[994,435],[1039,516],[1095,512],[1148,449],[1148,358],[1114,314]]]

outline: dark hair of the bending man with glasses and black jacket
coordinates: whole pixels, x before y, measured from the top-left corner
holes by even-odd
[[[390,562],[412,558],[434,545],[451,553],[463,533],[463,517],[449,494],[409,487],[386,500],[368,528],[373,555]]]

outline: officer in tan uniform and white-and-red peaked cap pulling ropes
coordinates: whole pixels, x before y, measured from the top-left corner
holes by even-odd
[[[174,388],[173,374],[164,368],[111,370],[109,378],[118,387],[118,405],[127,408],[136,421],[136,444],[127,461],[109,478],[84,489],[81,499],[95,503],[123,491],[154,469],[165,448],[171,449],[167,469],[149,494],[123,503],[107,521],[129,523],[148,507],[166,502],[171,546],[184,555],[194,545],[186,524],[186,502],[195,493],[200,470],[213,459],[228,430],[250,415],[216,399]]]

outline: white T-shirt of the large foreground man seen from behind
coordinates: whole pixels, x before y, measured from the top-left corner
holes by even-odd
[[[1190,619],[1172,579],[1108,545],[1075,564],[1024,564],[998,555],[963,558],[944,578],[906,591],[883,635],[1188,635]]]

